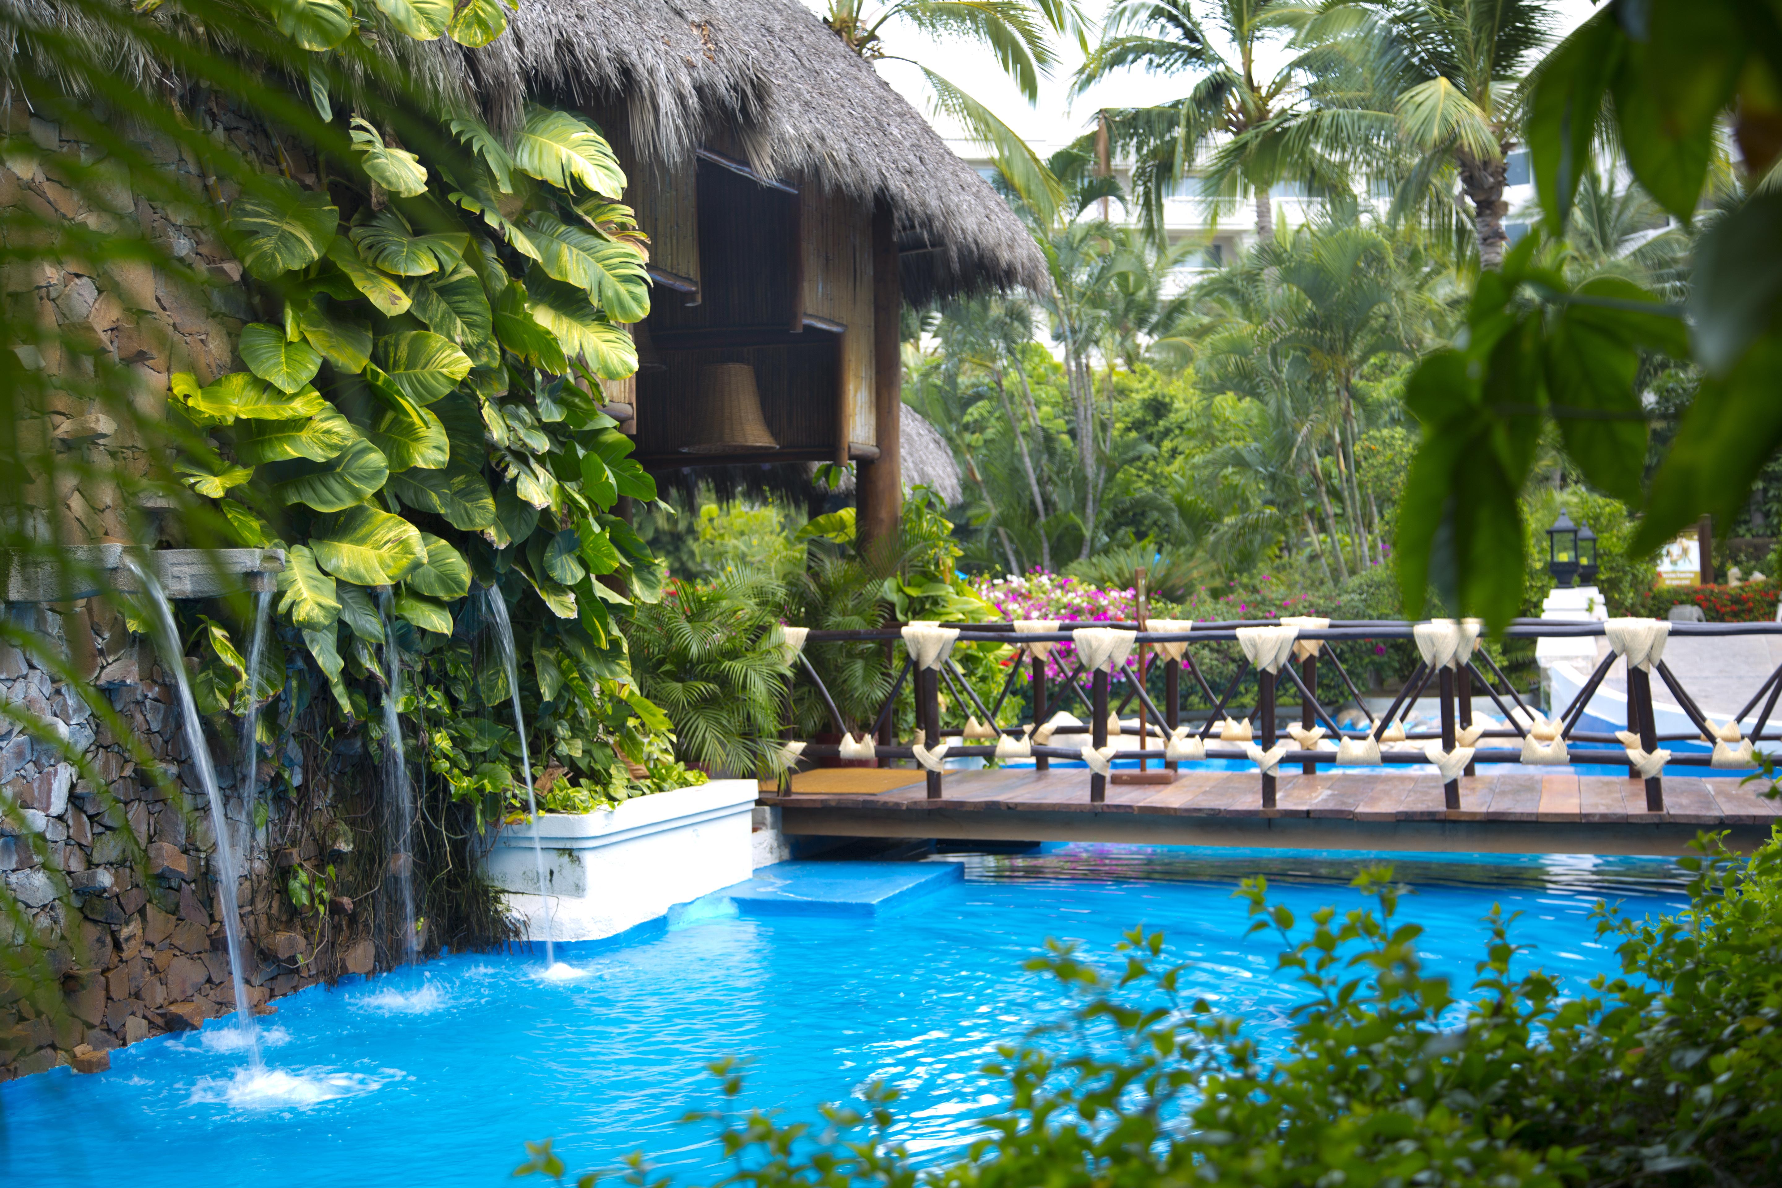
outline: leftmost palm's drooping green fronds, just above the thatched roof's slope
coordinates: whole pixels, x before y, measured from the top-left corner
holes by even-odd
[[[884,30],[887,25],[903,23],[930,37],[977,39],[991,48],[1003,73],[1021,89],[1021,96],[1034,103],[1039,98],[1041,75],[1050,73],[1059,61],[1046,41],[1046,28],[1083,39],[1083,16],[1076,0],[891,0],[882,5],[870,5],[868,0],[829,0],[823,23],[870,62],[909,62],[920,69],[928,84],[934,110],[957,119],[987,144],[996,166],[1023,199],[1048,207],[1059,201],[1057,183],[1014,128],[934,69],[912,57],[891,53],[886,48]]]

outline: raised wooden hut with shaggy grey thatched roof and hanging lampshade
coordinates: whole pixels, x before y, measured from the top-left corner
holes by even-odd
[[[984,178],[798,0],[527,0],[510,36],[451,52],[497,123],[576,105],[633,176],[658,290],[609,397],[638,458],[855,461],[862,534],[886,531],[902,303],[1042,283]]]

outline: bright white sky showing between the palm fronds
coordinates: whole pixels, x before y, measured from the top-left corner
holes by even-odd
[[[816,12],[823,12],[827,9],[825,0],[804,0],[804,4]],[[1085,0],[1083,7],[1087,11],[1096,11],[1098,4],[1096,0]],[[1556,25],[1561,34],[1581,25],[1595,11],[1595,5],[1590,4],[1590,0],[1556,0],[1552,7],[1556,12]],[[868,11],[871,12],[880,9],[879,5],[868,5]],[[1091,39],[1092,36],[1094,34],[1091,34]],[[1026,100],[1021,98],[1016,85],[1001,73],[1001,68],[996,64],[996,59],[989,53],[989,50],[962,41],[934,41],[911,28],[907,23],[898,21],[886,27],[884,41],[891,53],[916,59],[943,78],[948,78],[955,85],[962,87],[968,94],[996,112],[996,116],[1014,128],[1021,139],[1034,144],[1042,157],[1048,150],[1067,144],[1082,135],[1087,130],[1092,114],[1101,107],[1139,107],[1144,103],[1176,98],[1185,89],[1185,82],[1181,78],[1155,77],[1142,71],[1123,71],[1121,75],[1094,85],[1083,94],[1071,98],[1071,73],[1078,68],[1078,64],[1082,64],[1083,59],[1082,50],[1071,43],[1064,48],[1064,61],[1060,61],[1053,69],[1053,77],[1041,80],[1039,103],[1030,107]],[[1265,68],[1267,64],[1260,66]],[[930,116],[927,84],[916,66],[909,62],[884,61],[879,62],[879,73],[886,78],[886,82],[909,98],[916,110]],[[936,121],[936,126],[946,137],[960,135],[959,128],[952,126],[950,121]]]

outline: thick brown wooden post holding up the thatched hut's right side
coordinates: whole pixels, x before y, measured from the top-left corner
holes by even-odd
[[[855,534],[861,552],[896,540],[903,509],[903,280],[896,251],[896,214],[884,205],[873,210],[873,426],[879,458],[859,463],[854,481]],[[846,333],[859,333],[848,330]],[[836,426],[839,438],[846,426]],[[841,449],[846,449],[843,443]],[[930,745],[934,739],[930,739]]]

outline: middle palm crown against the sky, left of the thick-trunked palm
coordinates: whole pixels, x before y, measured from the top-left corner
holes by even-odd
[[[1076,93],[1130,68],[1194,77],[1189,94],[1169,103],[1099,112],[1108,148],[1133,160],[1133,191],[1153,235],[1162,224],[1164,198],[1214,150],[1203,192],[1226,199],[1249,196],[1263,239],[1274,233],[1269,192],[1278,182],[1347,185],[1344,146],[1360,144],[1365,135],[1342,125],[1354,121],[1353,109],[1331,116],[1320,89],[1342,73],[1342,34],[1358,20],[1347,5],[1324,9],[1301,0],[1214,0],[1205,21],[1190,0],[1114,5],[1101,45],[1076,71]],[[1208,36],[1208,25],[1221,37]],[[1299,53],[1260,77],[1258,55],[1281,41]]]

